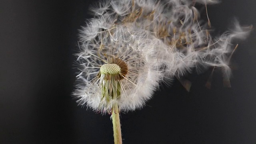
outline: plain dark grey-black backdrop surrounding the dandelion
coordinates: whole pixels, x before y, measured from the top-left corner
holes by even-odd
[[[77,106],[73,56],[86,0],[0,1],[0,143],[112,144],[110,116]],[[208,6],[212,26],[224,32],[234,16],[256,26],[255,0]],[[162,86],[142,110],[121,114],[124,144],[255,144],[256,33],[232,57],[232,88],[215,73]]]

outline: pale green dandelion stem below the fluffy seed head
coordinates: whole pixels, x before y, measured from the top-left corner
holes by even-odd
[[[118,109],[118,104],[116,103],[113,105],[113,109],[112,109],[112,123],[113,123],[113,131],[114,131],[114,144],[122,144],[119,109]]]

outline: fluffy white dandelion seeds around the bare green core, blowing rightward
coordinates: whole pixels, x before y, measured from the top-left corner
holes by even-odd
[[[200,20],[194,5],[218,2],[109,0],[92,8],[95,17],[80,30],[77,102],[103,113],[114,103],[122,111],[136,110],[151,98],[164,77],[182,77],[193,69],[200,73],[215,66],[229,78],[232,41],[246,38],[250,28],[235,21],[233,29],[212,38],[210,22]],[[128,74],[120,80],[120,99],[106,103],[97,74],[110,56],[126,62]]]

